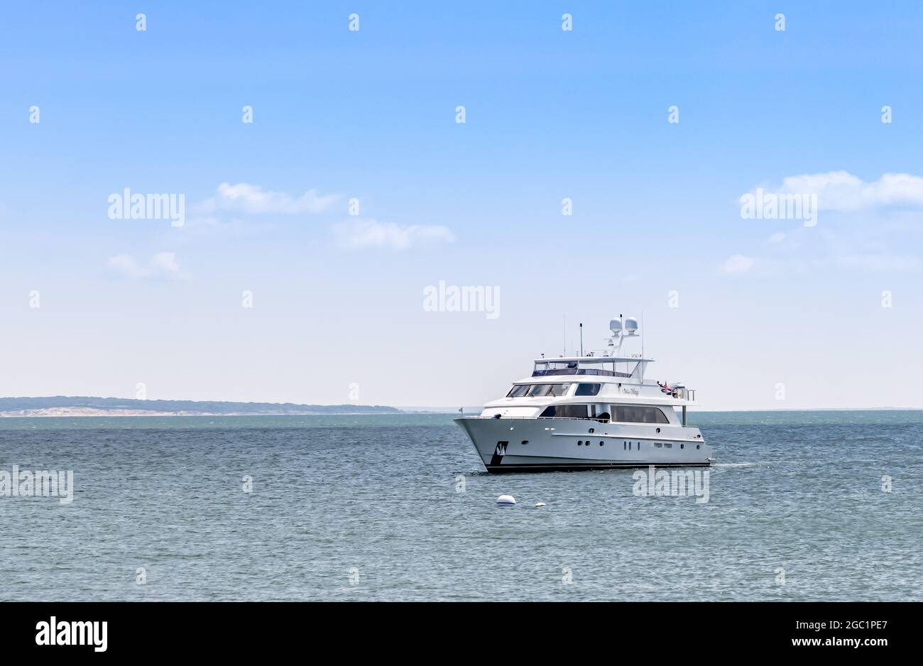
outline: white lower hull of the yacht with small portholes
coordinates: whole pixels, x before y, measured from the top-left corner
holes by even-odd
[[[698,428],[587,419],[455,419],[492,473],[707,467],[712,448]]]

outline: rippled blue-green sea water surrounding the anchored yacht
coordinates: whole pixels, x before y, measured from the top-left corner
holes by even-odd
[[[0,601],[923,600],[923,412],[692,419],[703,504],[488,475],[448,414],[0,419],[76,489],[0,496]]]

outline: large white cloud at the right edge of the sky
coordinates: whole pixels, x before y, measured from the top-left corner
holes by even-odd
[[[850,172],[802,173],[787,176],[778,194],[816,194],[822,210],[852,211],[883,206],[923,207],[923,178],[910,173],[884,173],[863,181]]]

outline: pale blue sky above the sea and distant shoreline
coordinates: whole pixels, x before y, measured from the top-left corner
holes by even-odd
[[[4,6],[0,395],[471,405],[643,312],[713,409],[921,406],[923,6],[379,5]]]

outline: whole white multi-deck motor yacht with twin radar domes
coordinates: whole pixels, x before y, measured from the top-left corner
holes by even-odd
[[[626,340],[641,339],[637,319],[613,319],[609,329],[605,350],[543,354],[506,397],[488,402],[479,416],[455,419],[488,471],[712,464],[711,447],[686,425],[695,391],[645,379],[653,359],[622,351]]]

